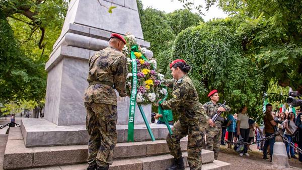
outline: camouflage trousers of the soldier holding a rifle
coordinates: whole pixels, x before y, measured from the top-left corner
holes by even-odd
[[[217,160],[220,150],[221,130],[206,131],[206,150],[214,151],[214,159]]]

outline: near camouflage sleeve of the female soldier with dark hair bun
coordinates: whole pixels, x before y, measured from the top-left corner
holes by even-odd
[[[189,92],[190,84],[181,83],[177,85],[172,93],[172,98],[168,101],[164,101],[161,106],[165,110],[179,108],[186,99],[187,93]]]

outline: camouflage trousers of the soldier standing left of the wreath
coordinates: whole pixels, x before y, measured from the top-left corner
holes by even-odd
[[[112,164],[113,149],[117,143],[117,107],[102,103],[85,103],[85,107],[89,134],[87,162],[99,166]]]

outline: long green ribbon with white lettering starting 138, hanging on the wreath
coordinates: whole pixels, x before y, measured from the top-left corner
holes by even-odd
[[[136,92],[137,92],[137,67],[136,67],[136,58],[134,55],[133,47],[131,48],[131,60],[132,60],[132,88],[131,88],[131,97],[129,105],[129,120],[128,120],[128,142],[133,139],[134,132],[134,113],[135,113],[135,103],[136,103]]]

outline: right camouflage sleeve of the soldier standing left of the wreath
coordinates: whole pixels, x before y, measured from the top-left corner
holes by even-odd
[[[114,89],[117,90],[120,97],[127,96],[126,94],[126,77],[127,77],[127,61],[126,57],[122,56],[114,75]]]

